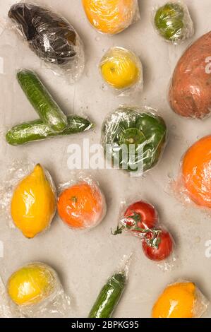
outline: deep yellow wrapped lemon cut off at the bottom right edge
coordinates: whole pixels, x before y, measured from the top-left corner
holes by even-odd
[[[193,318],[194,283],[175,283],[165,288],[152,309],[152,318]]]

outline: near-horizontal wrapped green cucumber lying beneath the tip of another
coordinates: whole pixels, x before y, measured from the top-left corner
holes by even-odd
[[[60,133],[52,131],[52,129],[40,119],[18,124],[17,126],[13,126],[13,128],[6,133],[6,141],[12,146],[18,146],[54,136],[77,134],[82,131],[87,131],[94,126],[90,120],[78,117],[77,115],[71,115],[67,119],[68,126]]]

